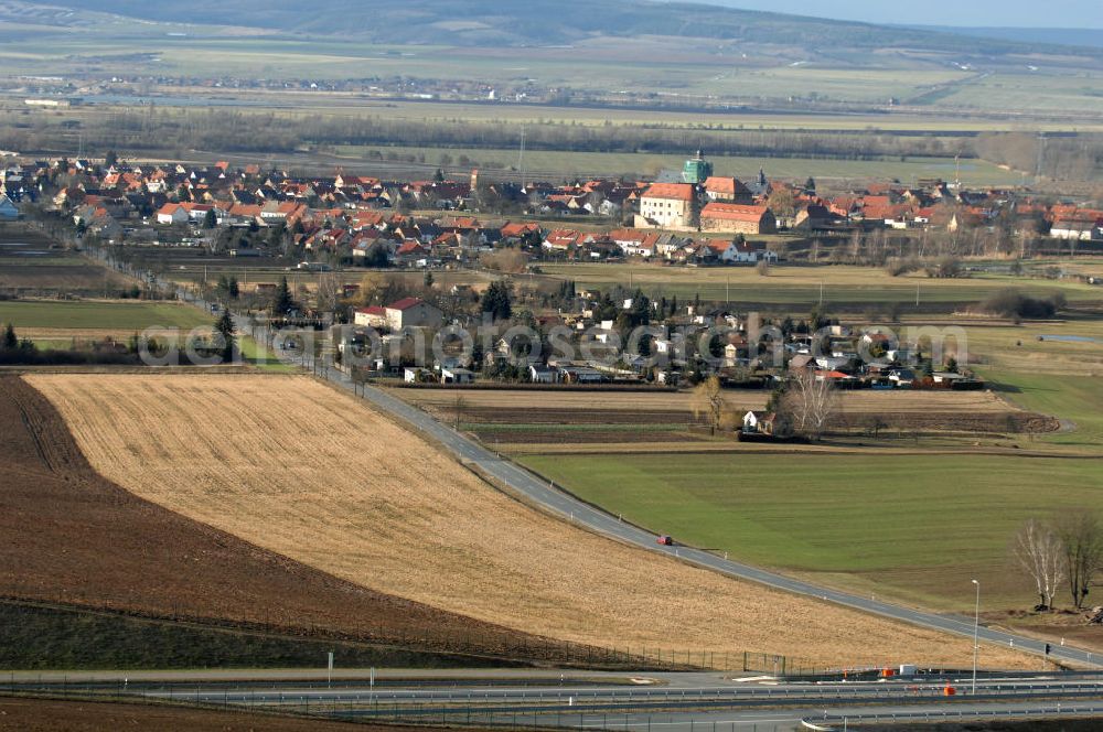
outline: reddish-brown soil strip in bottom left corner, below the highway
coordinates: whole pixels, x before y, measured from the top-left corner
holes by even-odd
[[[345,724],[250,712],[56,699],[0,699],[3,732],[403,732],[400,726]],[[410,729],[410,728],[406,728]],[[429,730],[431,728],[416,728]]]

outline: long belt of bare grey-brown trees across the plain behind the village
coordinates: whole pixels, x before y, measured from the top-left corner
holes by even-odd
[[[513,149],[517,127],[506,120],[409,120],[386,116],[287,115],[245,109],[133,109],[110,118],[82,119],[86,138],[118,150],[164,148],[267,152],[315,146],[401,146],[406,148]],[[65,148],[73,134],[64,126],[34,119],[10,130],[20,149]],[[526,126],[533,150],[653,152],[682,154],[702,147],[715,154],[824,157],[866,160],[902,155],[952,157],[971,151],[956,137],[908,137],[892,132],[792,131],[738,127],[686,129],[678,125],[571,125],[544,120]]]

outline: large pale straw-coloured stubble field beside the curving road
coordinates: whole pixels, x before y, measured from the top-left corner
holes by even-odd
[[[532,510],[308,377],[42,375],[135,494],[378,592],[619,648],[955,664],[970,640],[722,578]],[[1022,666],[1004,649],[986,661]]]

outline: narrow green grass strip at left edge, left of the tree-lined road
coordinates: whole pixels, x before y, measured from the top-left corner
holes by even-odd
[[[188,305],[162,302],[42,301],[0,302],[0,323],[19,329],[141,331],[147,327],[193,329],[212,317]]]

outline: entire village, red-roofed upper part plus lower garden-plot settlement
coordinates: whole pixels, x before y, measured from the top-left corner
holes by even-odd
[[[385,182],[225,162],[128,164],[113,154],[10,168],[0,215],[52,217],[117,263],[132,249],[268,263],[251,282],[204,276],[197,291],[247,312],[278,356],[328,349],[356,378],[406,387],[674,389],[715,379],[777,389],[807,376],[839,389],[982,389],[959,358],[964,344],[843,321],[822,298],[807,315],[763,315],[699,294],[649,297],[630,282],[585,289],[567,279],[552,288],[525,276],[547,263],[639,261],[754,267],[767,278],[777,262],[838,262],[845,250],[874,266],[952,278],[964,276],[965,256],[1014,260],[1103,244],[1103,211],[1029,192],[941,180],[817,191],[812,179],[771,181],[764,171],[743,182],[714,175],[700,151],[663,177],[521,185],[472,171],[464,182]],[[350,282],[357,269],[371,274]],[[387,274],[411,270],[421,276]],[[302,271],[315,289],[289,288],[288,273]],[[435,272],[457,271],[486,273],[491,283],[435,283]],[[308,344],[307,332],[325,335]],[[772,419],[763,415],[748,415],[743,431],[768,434]]]

